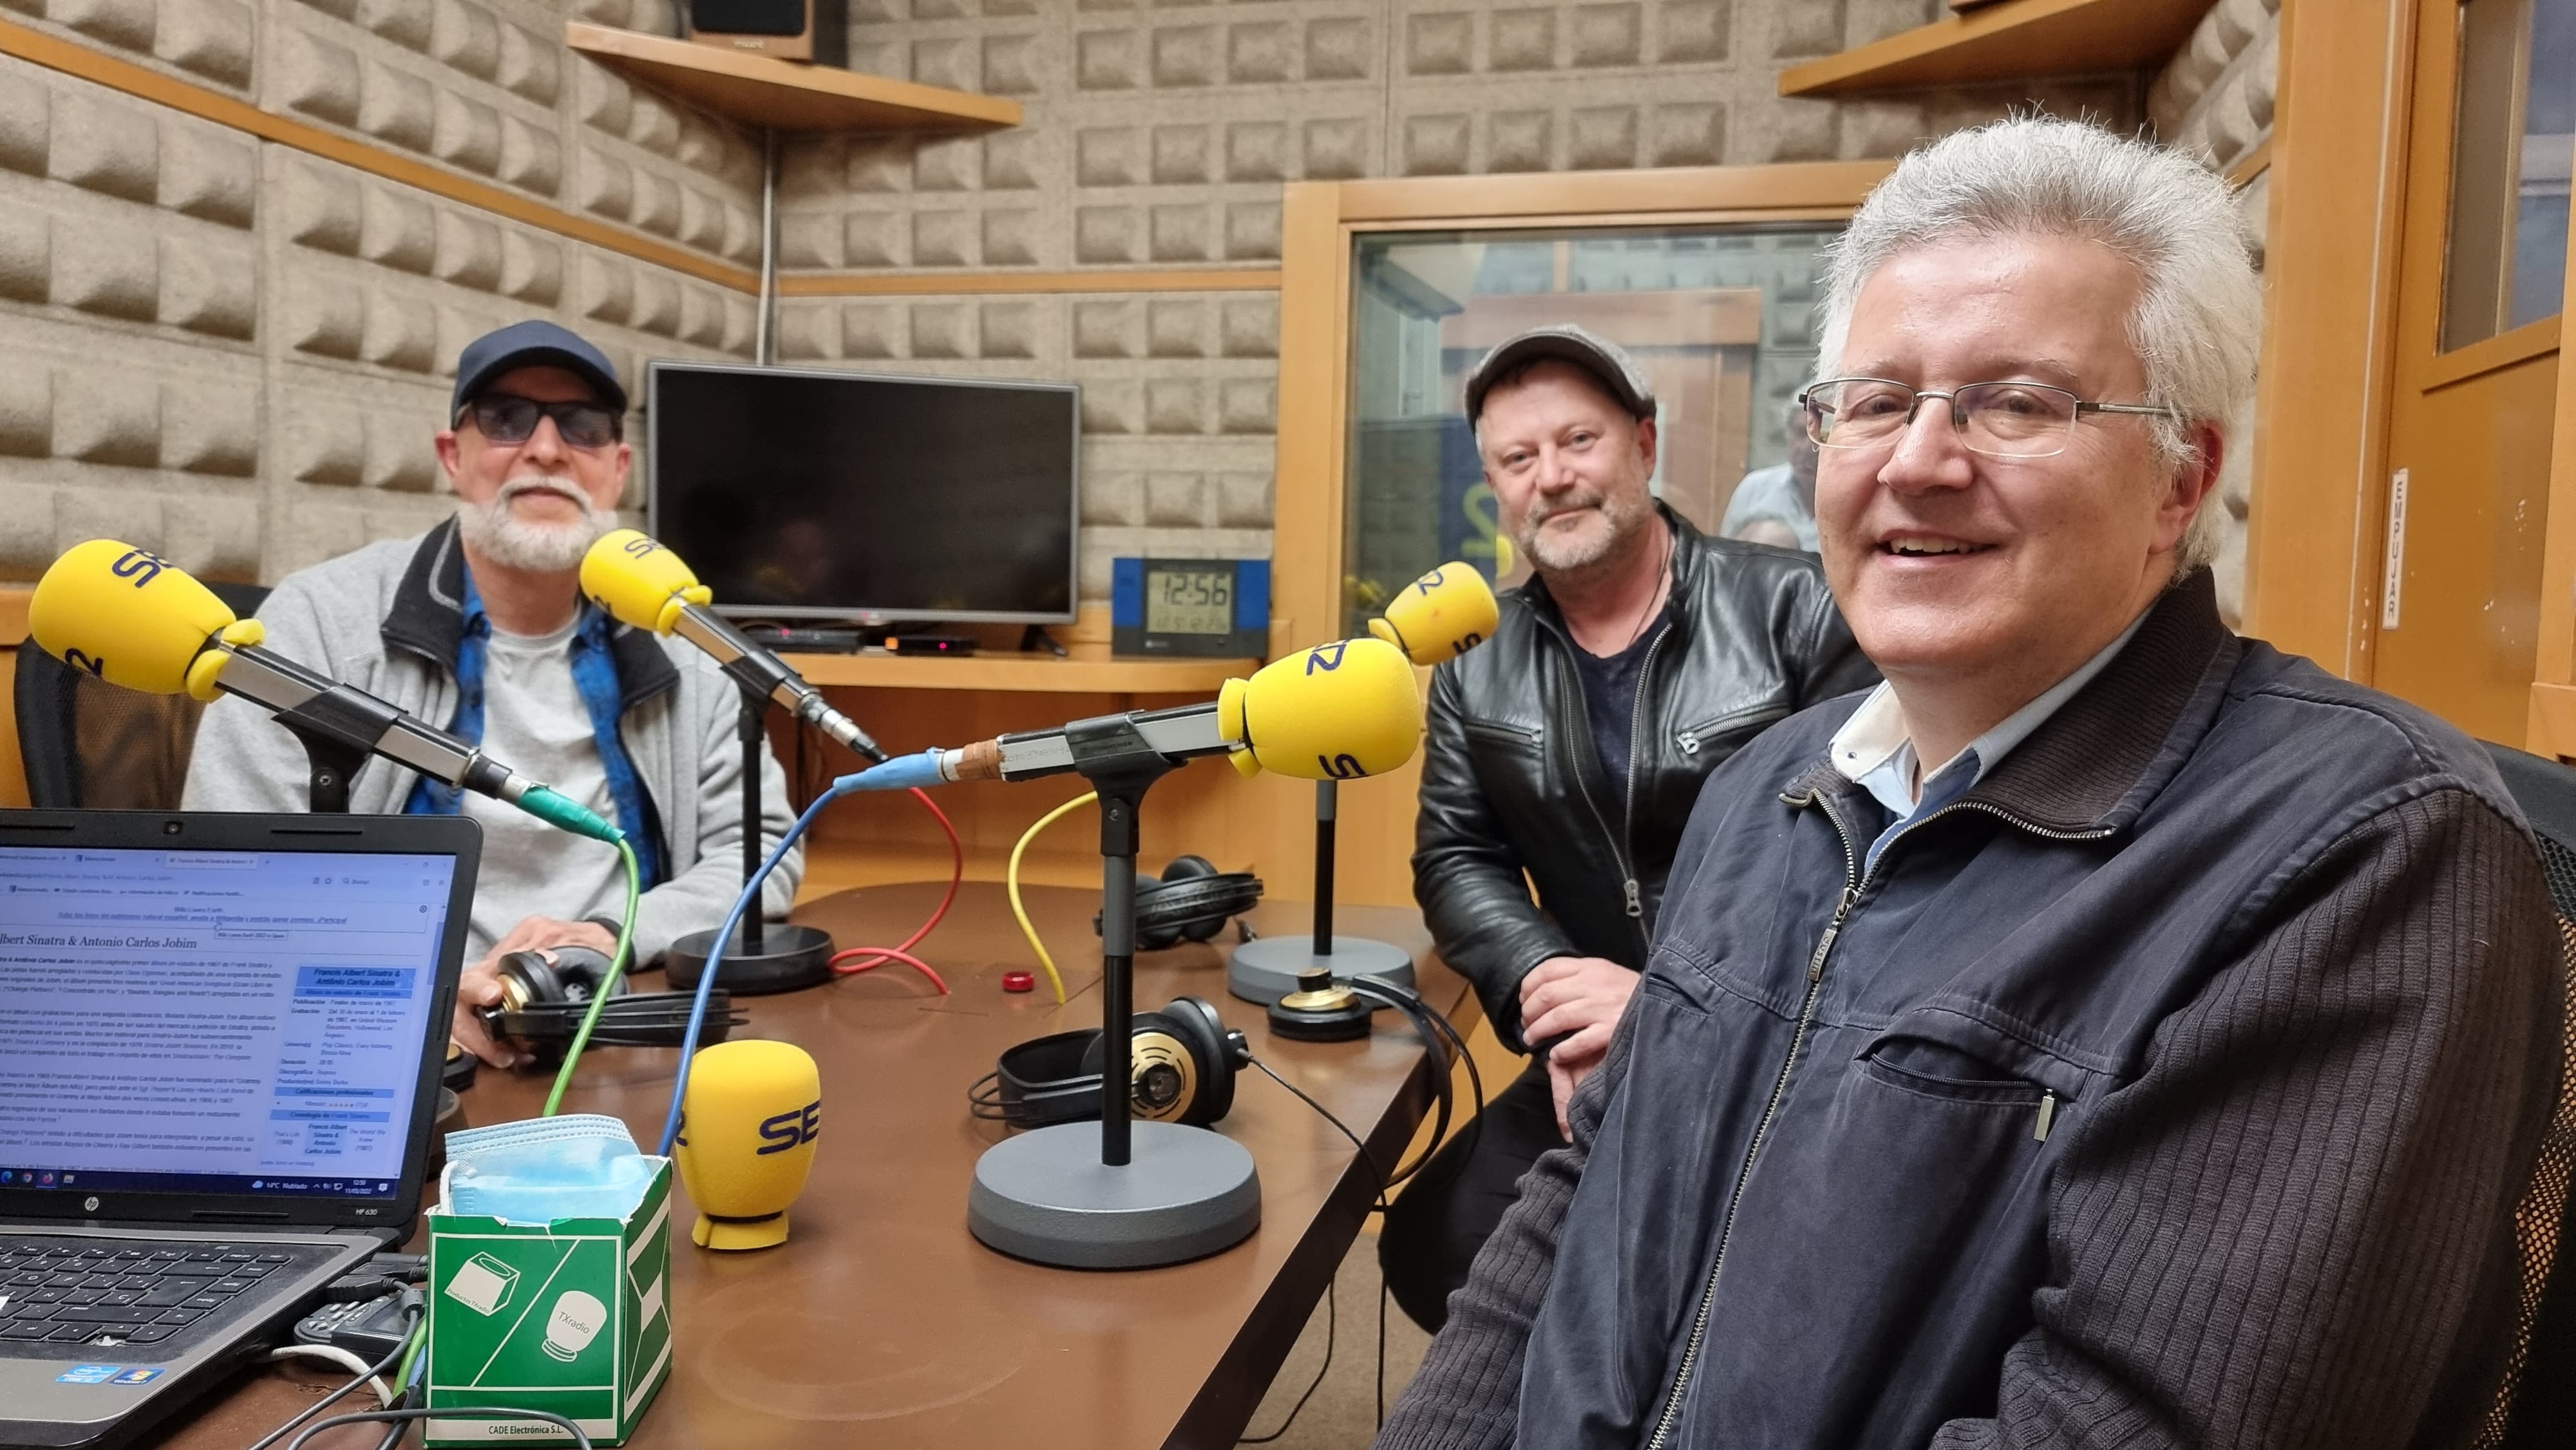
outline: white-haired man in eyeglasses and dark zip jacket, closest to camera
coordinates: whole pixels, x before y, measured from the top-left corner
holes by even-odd
[[[1860,206],[1806,417],[1886,685],[1710,775],[1378,1445],[2491,1442],[2558,943],[2470,739],[2218,621],[2257,330],[2146,142],[2002,121]]]

